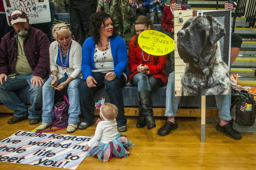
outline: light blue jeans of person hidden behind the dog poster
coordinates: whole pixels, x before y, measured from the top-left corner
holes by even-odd
[[[178,105],[180,103],[180,96],[175,96],[175,72],[170,73],[166,88],[166,112],[164,116],[176,116]],[[230,95],[216,95],[215,96],[218,113],[220,119],[231,120],[230,116]]]

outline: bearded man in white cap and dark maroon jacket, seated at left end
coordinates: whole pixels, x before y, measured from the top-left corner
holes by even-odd
[[[29,124],[34,125],[41,120],[42,85],[49,76],[50,42],[43,31],[29,25],[23,11],[13,11],[10,20],[14,29],[0,44],[0,102],[14,111],[8,124],[29,118]],[[29,109],[14,93],[27,85]]]

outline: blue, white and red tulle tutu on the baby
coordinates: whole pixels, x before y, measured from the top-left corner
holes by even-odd
[[[86,156],[91,155],[99,158],[100,161],[103,159],[104,162],[109,161],[112,156],[117,158],[128,157],[130,155],[128,150],[131,146],[135,146],[135,144],[131,144],[131,141],[122,136],[122,134],[117,134],[116,139],[109,143],[95,142]]]

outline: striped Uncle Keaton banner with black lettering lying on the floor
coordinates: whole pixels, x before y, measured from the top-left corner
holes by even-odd
[[[0,141],[0,162],[75,170],[85,158],[89,136],[19,130]]]

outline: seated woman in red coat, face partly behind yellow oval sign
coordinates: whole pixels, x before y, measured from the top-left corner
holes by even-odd
[[[136,127],[145,127],[148,130],[156,127],[152,110],[151,92],[167,82],[166,55],[154,56],[143,51],[138,44],[141,32],[153,29],[151,20],[143,15],[134,22],[137,35],[131,38],[128,52],[128,67],[131,70],[129,80],[138,88],[139,120]]]

